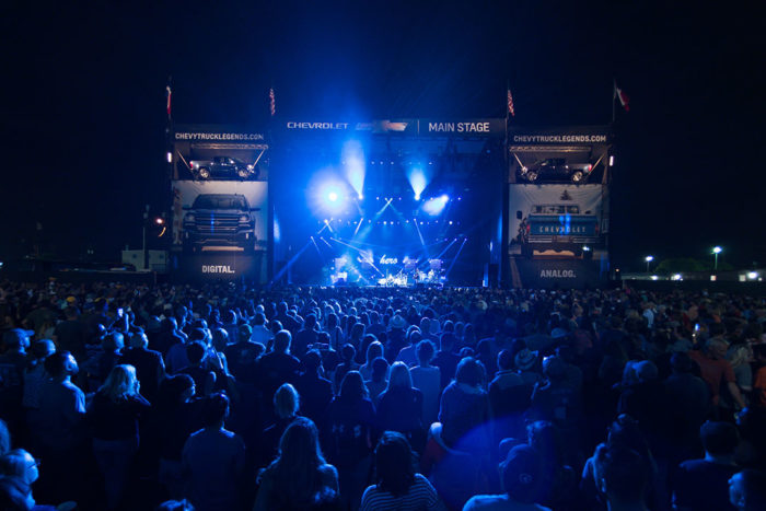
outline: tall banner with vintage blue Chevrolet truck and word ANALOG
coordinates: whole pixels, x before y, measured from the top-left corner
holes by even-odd
[[[584,287],[608,274],[606,185],[510,184],[511,279],[522,287]]]

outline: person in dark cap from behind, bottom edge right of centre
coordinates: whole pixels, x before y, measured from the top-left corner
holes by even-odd
[[[500,463],[503,495],[472,497],[463,511],[549,511],[535,503],[543,485],[543,463],[537,451],[529,445],[517,445]]]

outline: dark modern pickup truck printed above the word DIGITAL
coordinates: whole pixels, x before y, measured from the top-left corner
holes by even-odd
[[[183,243],[185,252],[206,246],[255,249],[255,214],[247,198],[239,194],[198,195],[184,206]]]

